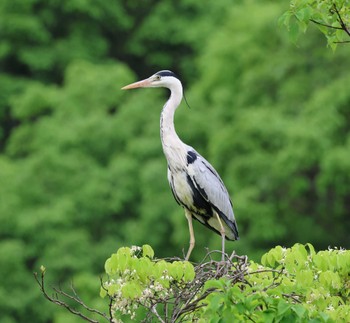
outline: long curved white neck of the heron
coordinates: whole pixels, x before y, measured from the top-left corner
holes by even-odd
[[[182,100],[182,86],[170,88],[171,94],[169,100],[165,103],[160,116],[160,137],[162,140],[163,151],[170,167],[177,167],[186,156],[186,145],[181,141],[175,131],[174,115],[177,107]]]

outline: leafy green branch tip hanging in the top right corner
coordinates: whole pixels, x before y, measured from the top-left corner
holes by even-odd
[[[338,43],[349,42],[350,8],[344,0],[293,0],[290,9],[280,17],[287,27],[290,39],[296,43],[310,22],[316,24],[333,50]]]

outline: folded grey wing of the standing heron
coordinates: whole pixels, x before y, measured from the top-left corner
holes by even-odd
[[[233,214],[233,205],[229,193],[214,167],[194,149],[188,152],[193,158],[188,158],[188,174],[197,190],[218,212],[238,239],[238,230]],[[195,156],[194,156],[195,154]],[[195,157],[195,158],[194,158]]]

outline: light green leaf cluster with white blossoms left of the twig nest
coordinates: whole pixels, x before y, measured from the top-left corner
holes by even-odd
[[[100,295],[111,299],[114,320],[128,315],[139,321],[144,308],[157,315],[160,307],[169,310],[168,305],[173,306],[174,290],[185,288],[194,279],[194,268],[188,261],[168,262],[155,260],[153,256],[153,249],[143,245],[120,248],[107,259],[108,280],[103,283]]]

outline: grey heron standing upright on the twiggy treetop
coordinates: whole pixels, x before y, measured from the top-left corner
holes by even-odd
[[[122,89],[141,87],[165,87],[170,90],[170,97],[161,112],[160,136],[168,163],[168,181],[188,221],[190,243],[185,259],[189,259],[195,245],[193,218],[221,235],[224,258],[225,239],[239,239],[233,206],[214,167],[195,149],[182,142],[175,131],[174,114],[183,97],[181,81],[173,72],[164,70]]]

